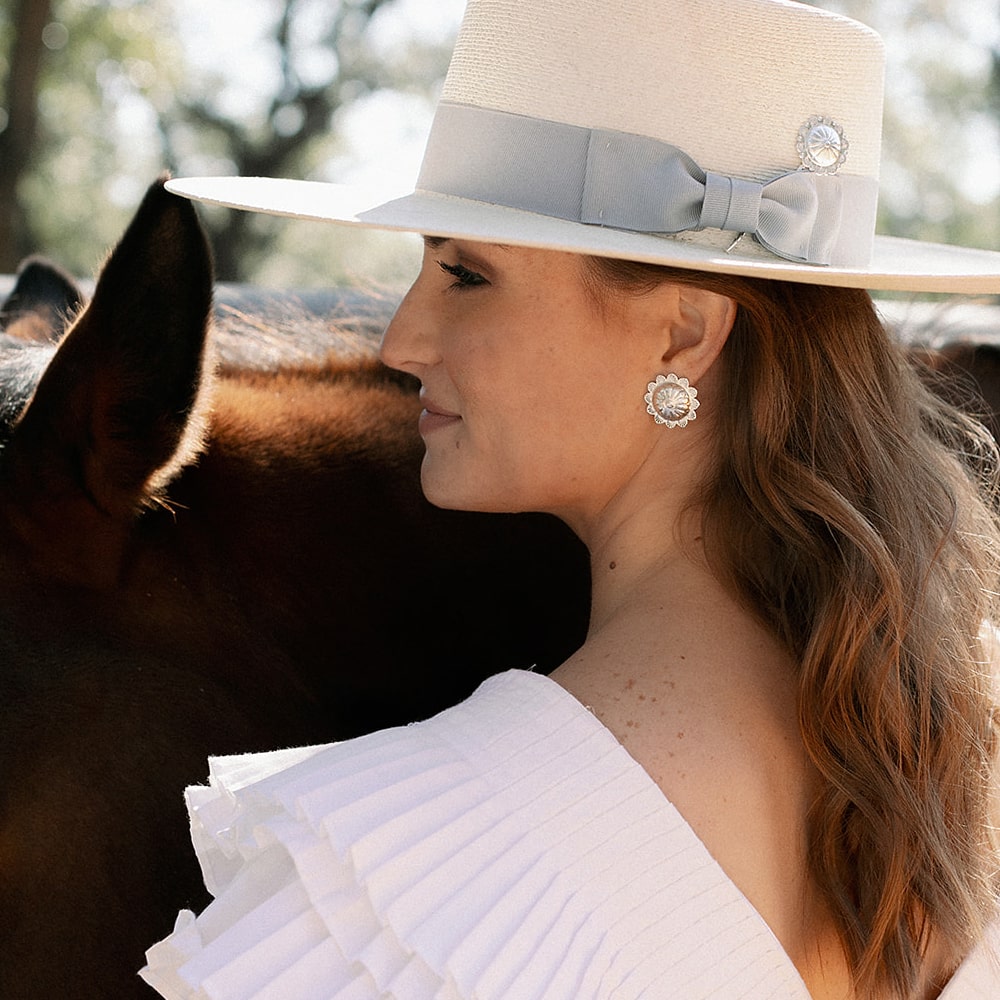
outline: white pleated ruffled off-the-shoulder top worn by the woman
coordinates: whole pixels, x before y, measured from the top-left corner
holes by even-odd
[[[544,676],[210,764],[187,797],[215,899],[140,973],[170,1000],[809,1000],[683,817]],[[942,1000],[996,1000],[997,955],[994,936]]]

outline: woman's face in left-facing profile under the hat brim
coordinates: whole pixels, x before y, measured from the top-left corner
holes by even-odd
[[[573,523],[644,462],[662,432],[643,401],[662,336],[640,298],[602,309],[584,267],[576,254],[425,240],[382,357],[423,385],[431,502]]]

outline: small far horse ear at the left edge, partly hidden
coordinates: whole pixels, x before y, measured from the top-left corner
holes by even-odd
[[[27,257],[0,306],[0,329],[22,340],[55,342],[82,305],[83,292],[61,267],[44,257]]]

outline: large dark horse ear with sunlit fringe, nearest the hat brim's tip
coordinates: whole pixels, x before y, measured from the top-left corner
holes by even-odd
[[[5,465],[22,510],[85,500],[124,524],[197,454],[211,299],[197,216],[161,179],[14,428]]]

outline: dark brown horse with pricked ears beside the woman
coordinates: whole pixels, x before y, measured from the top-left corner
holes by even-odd
[[[144,949],[205,902],[181,790],[207,755],[549,669],[588,570],[552,519],[423,500],[377,303],[206,336],[209,254],[160,185],[86,307],[40,271],[0,334],[0,997],[141,997]]]

